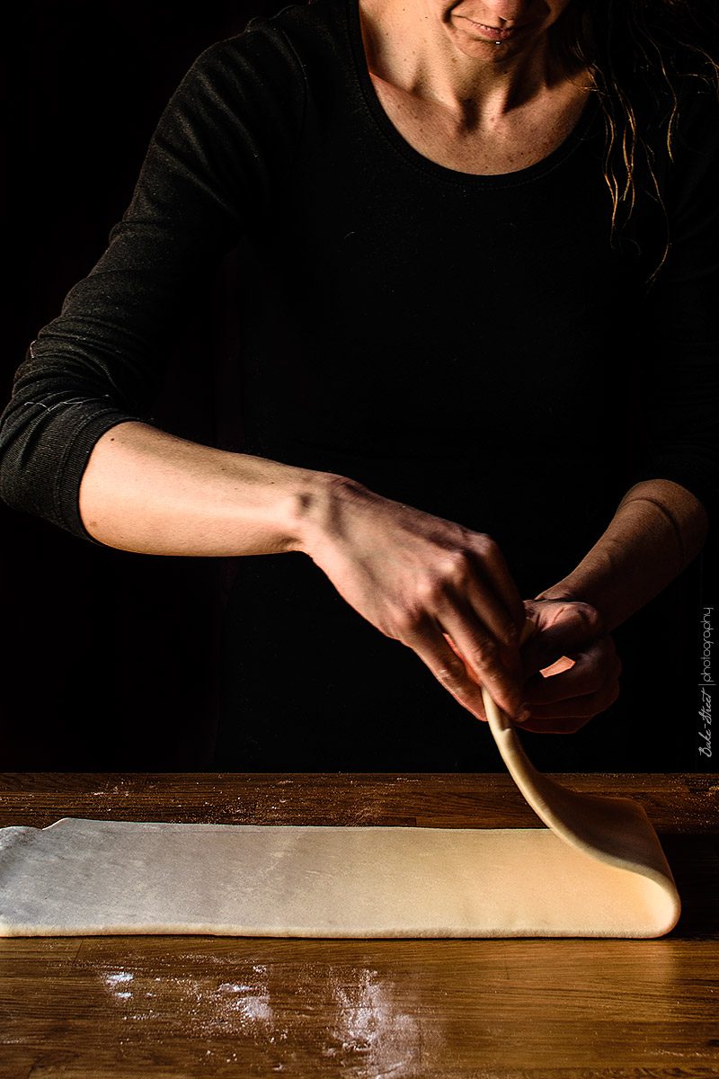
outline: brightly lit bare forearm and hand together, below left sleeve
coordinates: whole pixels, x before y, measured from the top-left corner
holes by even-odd
[[[137,422],[96,443],[80,514],[94,538],[144,554],[304,551],[478,718],[481,691],[447,637],[497,704],[522,712],[524,607],[486,535],[342,476],[210,449]]]

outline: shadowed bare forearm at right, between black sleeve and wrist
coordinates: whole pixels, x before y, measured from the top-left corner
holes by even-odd
[[[707,525],[702,504],[678,483],[637,483],[577,569],[537,599],[590,603],[611,631],[689,565],[704,545]]]

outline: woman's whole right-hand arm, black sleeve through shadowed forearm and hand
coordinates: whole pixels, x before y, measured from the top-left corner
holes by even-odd
[[[609,631],[692,561],[717,513],[718,121],[716,87],[692,80],[690,90],[687,82],[666,165],[672,245],[644,324],[645,456],[638,482],[592,550],[526,604],[539,627],[524,653],[531,729],[576,730],[612,702],[621,666]],[[537,673],[563,656],[575,659],[570,670],[551,679]]]

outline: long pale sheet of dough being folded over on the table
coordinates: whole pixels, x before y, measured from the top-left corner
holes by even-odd
[[[0,935],[659,937],[679,897],[644,809],[539,775],[494,736],[548,828],[172,824],[0,829]]]

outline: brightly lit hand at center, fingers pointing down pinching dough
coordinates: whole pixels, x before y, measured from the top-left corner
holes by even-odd
[[[308,534],[304,549],[341,596],[413,648],[462,707],[486,719],[482,682],[517,716],[524,604],[489,536],[341,477]]]

